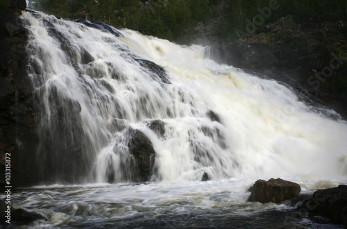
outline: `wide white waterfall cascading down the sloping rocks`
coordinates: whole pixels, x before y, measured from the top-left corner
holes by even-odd
[[[42,183],[347,175],[347,124],[179,46],[23,12]]]

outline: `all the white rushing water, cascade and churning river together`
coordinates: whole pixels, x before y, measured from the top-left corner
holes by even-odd
[[[203,46],[39,12],[22,19],[41,108],[34,174],[51,185],[12,196],[46,217],[33,226],[286,228],[290,207],[246,201],[255,180],[307,193],[347,183],[346,122],[276,81],[218,65]],[[149,128],[158,120],[162,135]],[[150,183],[133,183],[132,130],[155,151]]]

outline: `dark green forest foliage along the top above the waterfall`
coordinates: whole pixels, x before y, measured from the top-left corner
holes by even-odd
[[[186,42],[194,37],[196,24],[213,24],[221,40],[236,40],[235,31],[253,35],[269,22],[294,15],[299,22],[347,20],[343,0],[30,0],[31,6],[58,17],[96,19],[131,28],[146,35]],[[271,4],[269,17],[262,10]],[[258,20],[258,21],[257,21]],[[347,27],[347,25],[346,25]],[[254,30],[254,31],[253,31]],[[346,30],[347,31],[347,30]],[[347,32],[346,32],[347,33]]]

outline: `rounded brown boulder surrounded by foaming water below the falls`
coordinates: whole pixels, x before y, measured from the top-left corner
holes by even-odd
[[[280,178],[270,180],[257,180],[253,185],[251,196],[248,201],[260,203],[280,203],[294,198],[301,191],[300,185]]]

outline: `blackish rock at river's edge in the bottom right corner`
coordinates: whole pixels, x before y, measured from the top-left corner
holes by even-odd
[[[317,190],[299,205],[298,210],[328,217],[347,228],[347,185]]]

